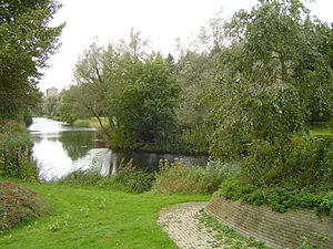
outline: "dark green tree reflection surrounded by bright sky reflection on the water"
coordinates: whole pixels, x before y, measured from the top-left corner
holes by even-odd
[[[93,132],[91,131],[65,131],[62,132],[59,141],[62,147],[67,151],[72,160],[87,155],[88,151],[92,148]]]

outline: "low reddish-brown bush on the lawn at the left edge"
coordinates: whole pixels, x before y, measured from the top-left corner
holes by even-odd
[[[50,206],[37,193],[0,181],[0,231],[50,214]]]

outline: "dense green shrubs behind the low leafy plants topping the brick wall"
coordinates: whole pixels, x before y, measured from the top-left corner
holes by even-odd
[[[293,138],[283,147],[255,141],[240,167],[243,176],[256,186],[311,186],[332,179],[332,139],[313,137]]]

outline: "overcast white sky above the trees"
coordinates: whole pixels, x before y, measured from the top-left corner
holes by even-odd
[[[61,90],[73,84],[72,73],[83,50],[95,41],[117,42],[129,37],[131,28],[151,41],[151,48],[168,54],[174,52],[175,39],[195,35],[200,27],[223,9],[231,17],[239,9],[250,9],[255,0],[58,0],[63,8],[52,24],[67,22],[62,45],[50,60],[39,87]],[[333,1],[306,3],[319,19],[333,22]]]

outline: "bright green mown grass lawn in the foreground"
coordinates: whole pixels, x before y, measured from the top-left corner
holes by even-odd
[[[176,248],[157,225],[158,211],[168,205],[210,198],[151,193],[131,195],[57,184],[19,184],[46,196],[53,206],[53,212],[0,235],[0,248]]]

